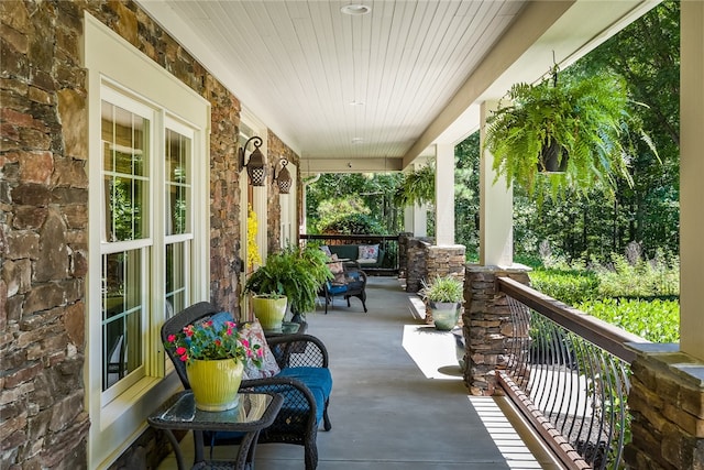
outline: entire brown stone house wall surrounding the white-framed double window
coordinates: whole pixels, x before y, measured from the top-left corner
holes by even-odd
[[[84,10],[211,103],[210,297],[239,311],[238,98],[132,1],[0,1],[2,469],[87,466]],[[143,436],[114,467],[135,468],[154,449],[168,451]]]

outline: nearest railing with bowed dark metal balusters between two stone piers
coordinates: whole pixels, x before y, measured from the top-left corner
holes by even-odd
[[[648,341],[508,277],[498,284],[513,320],[499,384],[568,468],[623,468],[635,358],[625,343]]]

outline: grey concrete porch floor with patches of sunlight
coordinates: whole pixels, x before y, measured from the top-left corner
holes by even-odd
[[[503,397],[468,394],[449,332],[414,315],[396,277],[370,277],[367,308],[336,298],[308,314],[330,353],[332,430],[318,433],[318,469],[558,469]],[[182,446],[193,462],[193,438]],[[227,458],[233,448],[217,448]],[[304,468],[300,446],[257,446],[257,470]],[[176,469],[173,455],[160,466]]]

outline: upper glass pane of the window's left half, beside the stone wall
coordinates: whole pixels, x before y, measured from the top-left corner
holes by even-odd
[[[147,238],[146,156],[150,121],[102,102],[107,241]]]

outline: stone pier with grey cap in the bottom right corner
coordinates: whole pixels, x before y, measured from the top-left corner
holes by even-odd
[[[632,469],[704,469],[704,363],[679,345],[630,345],[628,407],[632,441],[625,461]]]

